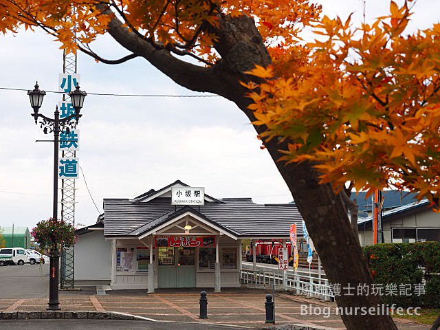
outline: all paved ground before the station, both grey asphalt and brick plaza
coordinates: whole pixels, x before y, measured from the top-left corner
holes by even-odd
[[[148,294],[146,289],[101,290],[103,294],[97,294],[96,287],[81,287],[80,290],[60,291],[61,311],[46,311],[48,271],[48,265],[0,267],[1,330],[12,327],[14,330],[113,329],[113,326],[121,329],[122,323],[122,329],[170,329],[178,326],[182,330],[217,330],[273,326],[265,323],[265,297],[272,294],[272,289],[267,287],[224,288],[221,292],[204,289],[208,298],[207,319],[199,318],[199,299],[203,288],[157,289],[153,294]],[[319,311],[326,311],[328,315],[318,314]],[[25,318],[35,320],[23,320]],[[52,318],[63,320],[50,320]],[[336,315],[336,303],[296,296],[292,292],[276,292],[275,320],[275,326],[284,329],[303,329],[293,325],[309,329],[345,329],[340,316]],[[395,318],[395,322],[399,330],[430,329],[428,325],[402,319]]]

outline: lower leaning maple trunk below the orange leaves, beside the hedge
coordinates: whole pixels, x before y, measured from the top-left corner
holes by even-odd
[[[274,147],[266,146],[271,155],[277,153]],[[373,277],[358,236],[351,228],[342,197],[336,195],[329,184],[318,184],[318,173],[311,164],[284,165],[278,162],[277,166],[305,220],[329,282],[340,285],[341,295],[336,296],[336,303],[342,309],[340,314],[344,325],[350,330],[397,329],[390,316],[373,315],[377,314],[378,307],[383,314],[380,296],[358,294],[359,285],[366,284],[371,288]],[[362,315],[365,313],[359,307],[367,308],[364,311],[373,307],[374,311]]]

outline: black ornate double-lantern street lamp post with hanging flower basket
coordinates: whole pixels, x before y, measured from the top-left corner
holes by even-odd
[[[60,112],[58,111],[58,106],[54,112],[54,118],[48,118],[45,115],[39,113],[41,104],[43,104],[43,97],[46,95],[45,91],[39,89],[38,82],[32,91],[28,91],[28,96],[30,98],[30,105],[34,109],[34,113],[31,113],[34,117],[35,124],[40,118],[40,127],[43,128],[45,134],[54,133],[54,200],[52,217],[58,219],[58,144],[61,131],[69,131],[69,129],[74,129],[80,117],[80,110],[83,107],[85,96],[87,93],[85,91],[80,91],[80,86],[76,85],[74,91],[69,92],[70,100],[72,106],[75,109],[75,113],[72,113],[66,118],[60,118]],[[72,121],[75,119],[75,121]],[[60,303],[58,300],[58,284],[59,284],[59,270],[60,270],[60,254],[59,247],[52,247],[50,251],[50,274],[49,274],[49,304],[48,310],[59,310]]]

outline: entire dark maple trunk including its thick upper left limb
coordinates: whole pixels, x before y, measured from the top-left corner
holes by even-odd
[[[253,122],[254,113],[248,109],[251,100],[246,97],[248,91],[239,81],[249,81],[251,77],[244,72],[256,64],[264,67],[269,65],[271,58],[253,19],[219,15],[218,23],[210,32],[218,36],[215,48],[221,55],[221,61],[213,67],[185,63],[171,56],[167,50],[156,50],[148,41],[124,28],[118,19],[112,19],[109,34],[120,45],[144,57],[179,85],[194,91],[210,91],[232,100]],[[266,129],[264,126],[254,128],[259,134]],[[340,285],[342,289],[341,295],[336,296],[336,302],[344,309],[342,320],[347,329],[397,329],[390,316],[373,315],[377,314],[377,306],[382,305],[380,296],[358,295],[358,285],[371,286],[373,278],[362,254],[358,236],[351,228],[342,197],[335,194],[331,185],[318,184],[318,173],[311,164],[278,162],[282,156],[280,149],[287,150],[287,142],[281,145],[277,139],[272,139],[263,143],[292,192],[327,278],[330,283]],[[354,311],[356,307],[358,311]],[[372,307],[375,311],[362,315],[365,313],[359,310],[360,307]]]

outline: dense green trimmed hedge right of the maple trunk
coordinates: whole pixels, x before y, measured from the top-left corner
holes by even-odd
[[[440,308],[440,242],[377,244],[364,254],[385,303]]]

